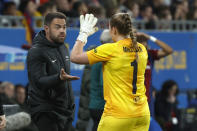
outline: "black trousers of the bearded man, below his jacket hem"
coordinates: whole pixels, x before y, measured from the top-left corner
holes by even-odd
[[[72,121],[63,123],[57,121],[51,113],[39,113],[36,117],[32,117],[33,122],[39,131],[71,131]]]

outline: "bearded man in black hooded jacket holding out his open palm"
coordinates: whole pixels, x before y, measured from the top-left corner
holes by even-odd
[[[28,52],[28,103],[39,131],[67,131],[73,120],[75,105],[70,80],[79,78],[68,75],[70,57],[65,37],[66,16],[49,13],[44,30],[35,36]]]

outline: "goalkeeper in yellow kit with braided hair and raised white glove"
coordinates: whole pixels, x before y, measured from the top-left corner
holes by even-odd
[[[112,16],[109,23],[114,43],[83,52],[88,36],[96,32],[97,18],[80,16],[80,33],[71,53],[78,64],[103,64],[103,88],[106,101],[98,131],[148,131],[150,112],[145,95],[146,48],[136,41],[127,13]]]

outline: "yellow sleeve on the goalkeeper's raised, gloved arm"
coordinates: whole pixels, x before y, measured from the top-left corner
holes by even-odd
[[[108,43],[88,51],[87,56],[88,56],[89,64],[110,60],[115,50],[114,47],[115,44]]]

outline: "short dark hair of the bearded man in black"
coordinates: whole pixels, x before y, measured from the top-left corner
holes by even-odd
[[[44,25],[49,26],[55,18],[65,19],[66,21],[66,16],[61,12],[48,13],[44,18]]]

